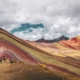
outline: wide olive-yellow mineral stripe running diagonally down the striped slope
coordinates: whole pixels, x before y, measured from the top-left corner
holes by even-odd
[[[56,66],[60,66],[62,68],[66,68],[68,69],[69,71],[71,72],[74,72],[76,74],[79,74],[80,75],[80,68],[78,67],[75,67],[75,66],[72,66],[72,65],[69,65],[69,64],[65,64],[63,62],[60,62],[58,60],[55,60],[53,59],[51,56],[48,56],[46,54],[42,54],[41,52],[35,50],[35,49],[32,49],[26,45],[23,45],[21,43],[19,43],[18,41],[10,38],[9,36],[1,33],[0,34],[0,37],[4,38],[5,40],[15,44],[17,47],[21,48],[22,50],[30,53],[30,55],[34,56],[35,58],[39,59],[40,61],[44,62],[44,63],[47,63],[47,64],[54,64]]]

